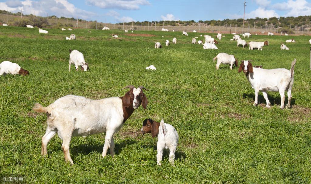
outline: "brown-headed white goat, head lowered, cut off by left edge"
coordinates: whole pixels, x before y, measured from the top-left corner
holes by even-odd
[[[0,76],[6,74],[19,74],[25,76],[29,75],[29,71],[24,70],[16,63],[12,63],[10,61],[3,61],[2,63],[0,63]]]

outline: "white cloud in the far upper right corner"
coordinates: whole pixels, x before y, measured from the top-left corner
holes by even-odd
[[[272,6],[277,10],[284,10],[284,16],[305,16],[311,15],[311,3],[305,0],[288,0],[287,2],[276,3]]]

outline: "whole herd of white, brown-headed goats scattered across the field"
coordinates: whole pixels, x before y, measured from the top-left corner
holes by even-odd
[[[27,25],[28,27],[28,25]],[[30,27],[31,28],[31,27]],[[104,30],[109,30],[109,28],[104,27]],[[166,30],[162,30],[166,31]],[[39,29],[39,33],[48,33],[43,29]],[[183,31],[183,35],[188,36],[186,32]],[[268,33],[268,35],[273,35],[273,33]],[[243,37],[251,37],[252,34],[244,33]],[[113,35],[114,38],[118,38],[117,35]],[[202,37],[202,35],[201,35]],[[219,40],[225,37],[222,34],[217,34],[216,36]],[[66,37],[67,39],[68,37]],[[198,37],[196,37],[198,38]],[[196,42],[198,44],[203,44],[202,40],[197,41],[196,38],[192,39],[193,44]],[[203,44],[204,49],[218,49],[216,47],[216,41],[209,35],[204,35],[205,43]],[[68,39],[74,40],[76,36],[72,34]],[[257,48],[262,50],[262,47],[269,45],[268,41],[264,42],[249,42],[246,43],[242,40],[239,35],[234,34],[233,40],[237,41],[237,46],[249,45],[249,49]],[[177,39],[173,38],[172,42],[177,43]],[[288,42],[295,42],[294,39],[286,40]],[[309,40],[311,44],[311,40]],[[169,40],[165,42],[166,46],[169,46]],[[155,48],[161,48],[161,43],[156,42]],[[281,49],[289,50],[285,44],[281,45]],[[81,66],[81,70],[89,70],[88,63],[85,62],[84,56],[81,52],[77,50],[69,50],[69,71],[71,65],[74,64],[76,70]],[[230,65],[232,70],[233,65],[238,67],[238,60],[234,55],[229,55],[227,53],[219,53],[213,60],[217,60],[216,70],[219,69],[220,64]],[[255,91],[255,101],[254,106],[258,105],[258,92],[263,93],[263,97],[266,100],[266,107],[270,108],[270,102],[267,97],[267,91],[279,92],[281,96],[280,108],[284,108],[285,102],[285,91],[288,96],[287,108],[290,108],[291,101],[291,88],[294,83],[294,66],[296,59],[291,64],[290,70],[287,69],[263,69],[261,66],[253,66],[250,60],[241,61],[239,65],[238,72],[244,72],[246,78],[248,79],[251,87]],[[146,69],[156,70],[156,68],[151,65]],[[0,64],[0,75],[3,74],[20,74],[28,75],[29,72],[21,68],[18,64],[12,63],[10,61],[3,61]],[[47,107],[36,103],[33,107],[35,112],[43,112],[47,114],[47,129],[46,133],[42,137],[42,155],[47,155],[47,144],[50,139],[58,133],[58,136],[62,139],[62,149],[65,155],[65,159],[73,164],[69,153],[69,145],[72,136],[88,136],[92,134],[97,134],[101,132],[106,132],[105,142],[103,147],[102,156],[106,156],[108,148],[110,148],[110,155],[114,156],[114,134],[120,130],[124,125],[125,121],[131,116],[134,110],[136,110],[140,105],[144,109],[148,104],[148,99],[144,94],[143,90],[147,90],[143,86],[135,88],[134,86],[127,86],[129,91],[125,93],[122,97],[110,97],[101,100],[92,100],[85,98],[83,96],[67,95],[63,96]],[[123,89],[125,89],[123,88]],[[162,121],[156,122],[152,119],[145,119],[142,123],[142,134],[151,133],[152,137],[157,137],[157,164],[161,165],[163,149],[168,148],[169,161],[174,164],[174,153],[179,140],[178,133],[176,129],[169,124]]]

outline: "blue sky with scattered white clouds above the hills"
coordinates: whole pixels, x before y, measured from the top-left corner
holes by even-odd
[[[0,0],[0,9],[118,23],[243,18],[244,0]],[[311,15],[311,0],[248,0],[245,18]]]

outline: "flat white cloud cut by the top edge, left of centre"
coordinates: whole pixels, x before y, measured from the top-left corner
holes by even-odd
[[[86,0],[86,2],[100,8],[116,8],[121,10],[138,10],[139,5],[149,5],[147,0]]]

